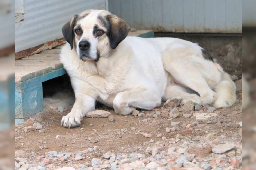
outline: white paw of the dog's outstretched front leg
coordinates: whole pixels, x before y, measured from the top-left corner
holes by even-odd
[[[80,126],[82,119],[82,115],[70,112],[66,116],[62,117],[61,126],[65,128],[74,128]]]

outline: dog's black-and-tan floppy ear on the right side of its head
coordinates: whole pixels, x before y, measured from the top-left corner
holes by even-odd
[[[109,33],[110,47],[115,49],[125,39],[131,28],[124,20],[115,15],[109,15],[108,19],[111,25]]]

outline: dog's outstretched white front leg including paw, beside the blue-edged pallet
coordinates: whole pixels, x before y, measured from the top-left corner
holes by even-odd
[[[96,99],[88,95],[76,95],[76,100],[70,113],[62,117],[61,126],[74,128],[80,126],[81,120],[87,112],[95,109]]]

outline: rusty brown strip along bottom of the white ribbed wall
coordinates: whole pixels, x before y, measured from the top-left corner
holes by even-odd
[[[46,42],[44,44],[41,44],[41,45],[38,45],[38,46],[35,46],[35,47],[28,48],[26,50],[16,52],[14,54],[15,55],[15,60],[18,60],[18,59],[23,58],[23,57],[31,56],[33,54],[37,54],[37,53],[39,53],[43,50],[52,49],[54,47],[60,46],[60,45],[65,44],[65,43],[66,43],[65,38],[60,38],[60,39],[55,39],[53,41]]]

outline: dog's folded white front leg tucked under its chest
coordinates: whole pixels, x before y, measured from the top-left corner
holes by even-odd
[[[120,92],[113,100],[115,113],[130,114],[135,108],[151,110],[161,104],[161,96],[154,89],[139,88]]]

